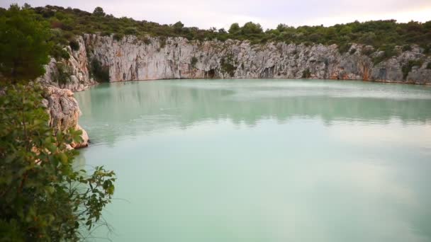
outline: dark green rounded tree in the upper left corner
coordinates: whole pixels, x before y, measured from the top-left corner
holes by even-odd
[[[28,81],[41,76],[49,59],[49,29],[28,8],[11,5],[0,16],[0,72],[3,79]],[[4,81],[3,80],[3,81]]]

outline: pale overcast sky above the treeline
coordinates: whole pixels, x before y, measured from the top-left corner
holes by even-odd
[[[264,28],[287,25],[334,25],[355,20],[396,19],[426,22],[431,20],[431,0],[1,0],[10,4],[47,4],[80,8],[92,12],[101,6],[113,16],[136,20],[175,23],[199,28],[229,28],[231,23],[253,21]]]

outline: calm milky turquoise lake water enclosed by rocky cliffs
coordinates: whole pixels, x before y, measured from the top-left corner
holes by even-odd
[[[431,241],[431,88],[176,80],[75,93],[116,171],[95,241]]]

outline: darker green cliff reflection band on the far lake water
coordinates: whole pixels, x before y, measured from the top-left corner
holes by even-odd
[[[102,84],[76,94],[82,125],[92,132],[112,129],[130,136],[196,122],[231,120],[254,126],[259,120],[293,117],[388,124],[430,122],[431,89],[337,81],[136,81]],[[124,128],[123,125],[127,125]],[[96,135],[97,137],[97,135]]]

